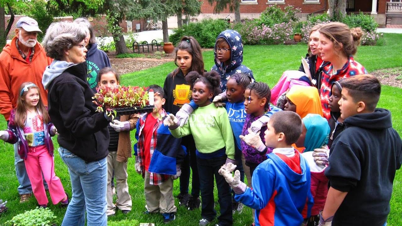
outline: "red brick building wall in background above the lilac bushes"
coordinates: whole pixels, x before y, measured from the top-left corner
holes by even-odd
[[[325,4],[326,1],[327,0],[320,0],[320,4],[303,4],[304,0],[285,0],[285,4],[278,4],[278,6],[283,9],[287,5],[293,5],[297,8],[301,8],[301,13],[312,13],[317,12],[318,10],[324,12],[328,10],[328,6]],[[261,13],[265,10],[265,8],[271,6],[271,4],[267,4],[267,2],[268,0],[257,0],[258,4],[241,4],[240,13]],[[203,0],[201,13],[213,13],[214,7],[215,4],[211,6],[207,0]],[[221,13],[229,13],[228,8]]]

